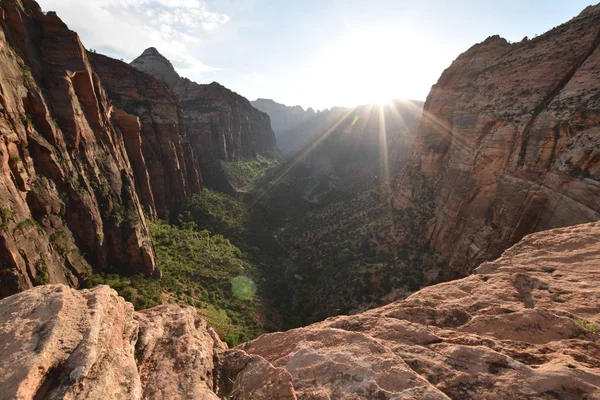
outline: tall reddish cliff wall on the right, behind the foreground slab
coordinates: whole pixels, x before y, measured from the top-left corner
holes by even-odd
[[[600,6],[533,40],[493,36],[433,86],[393,203],[461,274],[528,233],[600,219]]]

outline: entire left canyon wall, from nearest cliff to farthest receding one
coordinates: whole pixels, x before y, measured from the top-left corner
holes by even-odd
[[[87,52],[34,1],[0,11],[0,297],[102,271],[160,277],[146,216],[229,188],[219,160],[273,152],[268,116],[218,84],[182,79],[179,97]]]

